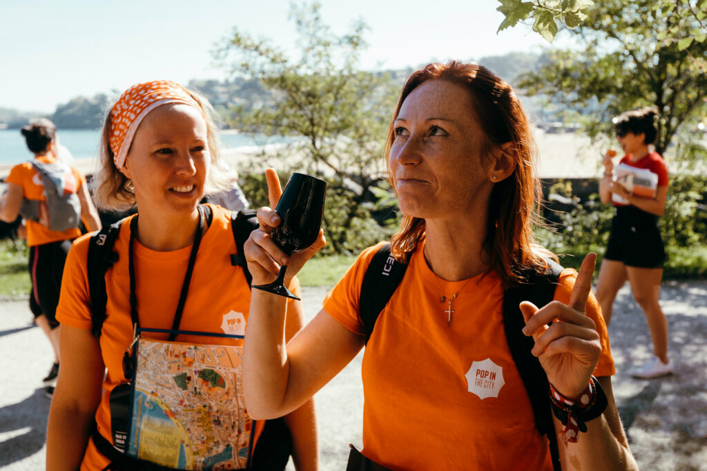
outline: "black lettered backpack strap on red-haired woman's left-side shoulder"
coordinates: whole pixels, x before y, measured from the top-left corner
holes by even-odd
[[[405,276],[407,263],[400,263],[390,254],[390,244],[385,244],[373,256],[363,275],[358,309],[366,330],[366,343],[373,333],[375,321]]]

